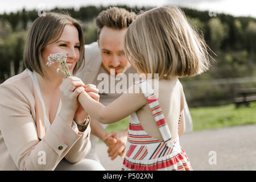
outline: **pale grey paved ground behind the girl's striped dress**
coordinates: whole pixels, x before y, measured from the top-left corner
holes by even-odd
[[[180,144],[194,170],[256,170],[256,125],[185,133]],[[122,159],[110,160],[106,150],[104,143],[97,144],[101,164],[106,170],[120,170]],[[216,164],[209,164],[210,151],[216,154]]]

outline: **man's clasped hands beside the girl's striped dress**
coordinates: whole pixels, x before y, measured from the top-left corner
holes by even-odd
[[[111,160],[114,160],[118,155],[120,155],[123,159],[126,151],[127,130],[117,132],[113,131],[112,133],[107,134],[103,140],[105,142],[105,140],[109,140],[111,138],[116,139],[116,142],[109,145],[109,157],[111,157]]]

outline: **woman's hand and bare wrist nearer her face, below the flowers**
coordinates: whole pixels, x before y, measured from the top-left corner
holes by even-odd
[[[74,115],[79,106],[77,97],[85,90],[84,86],[84,82],[82,82],[80,78],[71,76],[65,78],[59,87],[62,102],[59,115],[61,118],[65,119],[70,126],[72,125]]]

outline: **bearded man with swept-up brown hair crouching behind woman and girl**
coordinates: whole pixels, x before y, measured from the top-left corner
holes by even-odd
[[[98,40],[85,46],[85,66],[76,75],[85,84],[98,86],[102,80],[98,80],[97,78],[102,73],[108,75],[109,81],[110,77],[115,77],[118,73],[124,73],[127,78],[129,77],[129,73],[136,73],[136,70],[131,67],[129,61],[127,61],[123,54],[123,37],[127,27],[135,20],[135,16],[134,13],[118,7],[112,7],[102,11],[97,16]],[[113,75],[110,75],[112,73],[110,69],[114,70]],[[115,85],[117,82],[115,81]],[[129,88],[129,85],[127,85],[127,88]],[[109,92],[102,92],[99,89],[100,102],[104,105],[109,105],[121,95],[119,93],[110,93],[110,89],[108,88]],[[186,114],[190,116],[188,110],[185,110]],[[187,119],[185,120],[187,122]],[[109,147],[108,153],[112,160],[118,155],[121,157],[125,155],[128,129],[108,134],[105,131],[106,126],[93,118],[91,119],[90,140],[92,149],[86,158],[100,162],[95,151],[98,138],[103,140]]]

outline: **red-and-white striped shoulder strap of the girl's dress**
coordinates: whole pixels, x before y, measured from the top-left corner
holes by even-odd
[[[135,84],[139,85],[141,88],[164,142],[166,142],[169,147],[172,147],[174,145],[174,141],[172,140],[172,135],[168,128],[166,119],[164,118],[164,114],[159,105],[158,99],[154,94],[154,90],[152,89],[151,85],[148,84],[147,80],[137,81]]]

